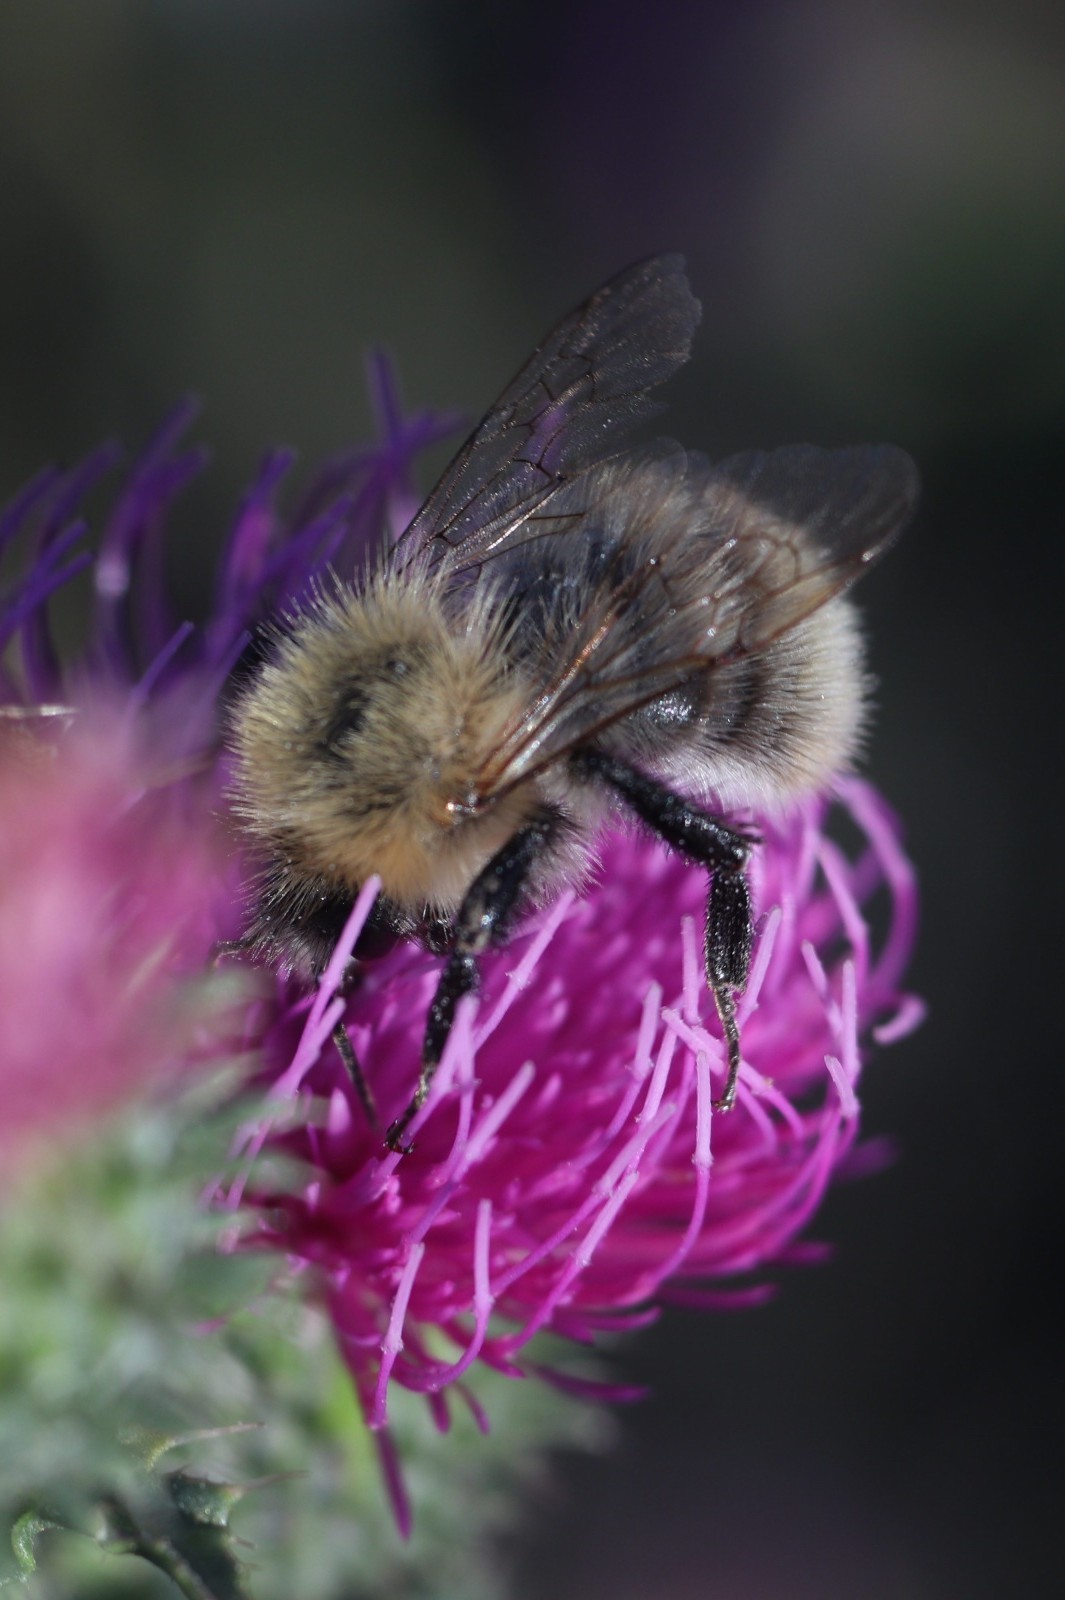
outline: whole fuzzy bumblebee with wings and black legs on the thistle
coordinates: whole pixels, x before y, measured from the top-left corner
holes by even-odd
[[[635,818],[708,872],[707,984],[736,1098],[752,952],[737,810],[820,790],[865,720],[848,589],[911,515],[888,445],[712,464],[627,446],[699,322],[678,256],[566,317],[357,586],[275,630],[232,715],[235,810],[262,858],[241,947],[317,979],[371,874],[373,939],[445,954],[424,1104],[478,957],[582,885],[596,835]],[[342,1026],[336,1043],[373,1117]]]

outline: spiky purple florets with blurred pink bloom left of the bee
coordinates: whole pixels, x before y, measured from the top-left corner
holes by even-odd
[[[219,813],[219,693],[256,622],[326,565],[355,566],[389,517],[409,515],[409,466],[451,430],[401,418],[371,370],[384,440],[329,462],[294,512],[277,507],[291,454],[273,451],[238,509],[201,629],[163,586],[166,515],[203,467],[179,451],[179,406],[122,486],[96,554],[86,494],[117,466],[102,446],[48,469],[0,512],[0,1142],[138,1093],[173,1061],[174,976],[203,971],[240,915]],[[18,546],[18,557],[10,550]],[[88,578],[80,654],[51,637],[50,600]],[[181,1035],[187,1043],[187,1035]],[[221,1042],[219,1042],[221,1046]]]

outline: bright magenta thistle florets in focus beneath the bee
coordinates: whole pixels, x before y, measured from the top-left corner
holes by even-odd
[[[899,990],[916,904],[897,826],[857,781],[841,805],[856,859],[825,835],[824,802],[761,824],[729,1114],[712,1110],[726,1059],[702,976],[705,874],[633,835],[604,842],[587,898],[485,960],[411,1154],[382,1147],[329,1043],[342,950],[313,1005],[275,1022],[275,1096],[321,1114],[285,1134],[307,1181],[259,1195],[257,1237],[317,1269],[371,1426],[387,1422],[392,1382],[445,1419],[449,1384],[475,1362],[525,1371],[540,1330],[592,1342],[667,1299],[747,1304],[764,1286],[731,1280],[798,1258],[830,1178],[860,1165],[867,1040],[918,1019]],[[889,914],[878,947],[862,914],[875,896]],[[411,1096],[437,976],[403,947],[368,963],[347,1002],[385,1123]]]

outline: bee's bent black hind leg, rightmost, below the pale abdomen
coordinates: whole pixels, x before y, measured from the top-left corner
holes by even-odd
[[[659,838],[689,861],[712,872],[707,899],[707,987],[713,995],[729,1059],[724,1090],[715,1110],[731,1110],[740,1066],[736,995],[744,992],[753,944],[747,859],[756,838],[708,816],[691,800],[673,794],[657,778],[648,778],[601,750],[580,750],[574,766],[608,784]]]

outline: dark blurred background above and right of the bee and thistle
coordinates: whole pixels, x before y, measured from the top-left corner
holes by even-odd
[[[865,1078],[897,1162],[828,1267],[624,1349],[654,1395],[558,1462],[515,1594],[1057,1594],[1065,10],[5,5],[0,203],[0,501],[198,392],[187,611],[265,445],[366,434],[368,347],[473,416],[660,250],[704,304],[670,432],[915,454],[862,594],[926,899],[929,1021]]]

